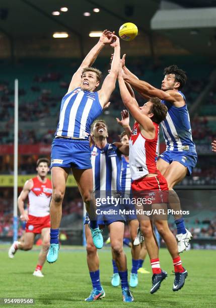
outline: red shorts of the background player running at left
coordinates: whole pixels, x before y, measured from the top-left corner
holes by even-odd
[[[29,220],[26,223],[26,232],[39,233],[43,228],[50,228],[50,216],[36,217],[29,215]]]

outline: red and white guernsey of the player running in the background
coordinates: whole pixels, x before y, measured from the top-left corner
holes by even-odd
[[[44,217],[49,215],[49,203],[52,195],[52,184],[49,179],[42,183],[39,179],[33,178],[33,187],[29,192],[29,215]]]

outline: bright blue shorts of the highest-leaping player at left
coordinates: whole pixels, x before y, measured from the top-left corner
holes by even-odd
[[[51,166],[91,169],[91,151],[88,140],[54,138],[51,148]]]

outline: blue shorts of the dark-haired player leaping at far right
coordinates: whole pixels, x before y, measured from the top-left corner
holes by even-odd
[[[196,166],[197,162],[197,154],[194,152],[177,152],[167,150],[163,152],[159,158],[171,164],[172,162],[179,162],[183,166],[187,168],[187,175],[190,176],[193,168]]]

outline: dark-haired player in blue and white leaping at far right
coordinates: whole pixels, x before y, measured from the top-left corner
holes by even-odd
[[[177,65],[166,67],[162,87],[159,90],[145,81],[140,81],[132,74],[126,68],[124,59],[125,55],[122,58],[124,80],[141,95],[160,98],[168,108],[167,117],[161,123],[167,148],[159,156],[157,168],[167,180],[170,207],[175,211],[179,211],[181,209],[180,200],[173,187],[181,182],[186,175],[191,175],[197,162],[186,99],[180,91],[186,83],[186,73]],[[174,217],[177,226],[178,251],[183,252],[188,247],[192,235],[185,228],[182,215],[176,214]]]

